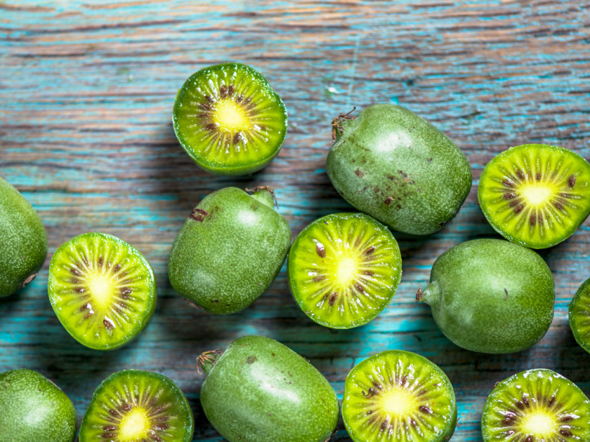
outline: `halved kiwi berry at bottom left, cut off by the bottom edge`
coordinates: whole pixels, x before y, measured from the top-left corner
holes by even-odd
[[[190,442],[195,429],[183,392],[168,377],[123,370],[98,386],[80,442]]]

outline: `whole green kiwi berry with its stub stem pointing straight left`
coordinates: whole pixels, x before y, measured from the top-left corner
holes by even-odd
[[[500,239],[474,239],[435,261],[422,301],[459,347],[513,353],[531,347],[553,320],[551,270],[534,251]]]

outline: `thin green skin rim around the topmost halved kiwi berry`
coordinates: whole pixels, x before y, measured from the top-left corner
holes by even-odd
[[[211,164],[207,161],[203,161],[197,154],[195,154],[195,152],[193,151],[192,147],[188,144],[188,142],[185,142],[184,137],[183,137],[183,133],[182,133],[182,129],[177,121],[176,114],[180,109],[181,101],[183,100],[183,95],[189,93],[192,83],[195,81],[195,79],[198,78],[199,76],[205,74],[206,71],[208,71],[209,69],[218,69],[218,68],[223,68],[223,67],[240,67],[243,69],[247,69],[251,76],[256,78],[257,81],[263,83],[263,85],[264,85],[263,87],[265,88],[266,93],[269,96],[271,96],[273,98],[273,100],[275,100],[277,106],[279,106],[280,109],[282,109],[282,119],[284,120],[284,130],[282,131],[282,138],[280,138],[280,140],[277,141],[277,147],[276,147],[275,151],[273,152],[273,154],[271,154],[270,156],[266,156],[264,158],[261,158],[254,163],[248,163],[248,164],[244,164],[242,166],[218,166],[215,164]],[[249,67],[247,65],[242,65],[242,63],[235,63],[235,62],[221,63],[219,65],[205,67],[204,69],[201,69],[201,70],[195,72],[194,74],[189,76],[188,79],[186,79],[183,86],[180,89],[178,89],[178,93],[176,93],[176,100],[174,102],[174,107],[173,107],[173,128],[174,128],[174,133],[176,133],[176,138],[178,138],[178,142],[181,143],[181,146],[183,147],[185,152],[190,156],[192,161],[195,161],[195,163],[197,164],[197,166],[199,166],[199,168],[202,168],[203,170],[206,170],[207,172],[212,173],[214,175],[225,175],[225,176],[250,175],[250,174],[258,172],[258,170],[261,170],[261,169],[265,168],[266,166],[268,166],[268,164],[271,161],[273,161],[273,159],[275,159],[275,156],[277,156],[277,154],[279,154],[282,144],[284,142],[284,139],[287,137],[287,108],[284,106],[284,103],[282,102],[280,96],[277,93],[275,93],[273,88],[270,87],[270,84],[268,83],[268,81],[256,69],[254,69],[253,67]]]

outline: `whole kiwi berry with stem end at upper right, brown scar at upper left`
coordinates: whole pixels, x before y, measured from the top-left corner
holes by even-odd
[[[209,194],[197,209],[173,243],[170,282],[211,313],[240,312],[277,276],[291,229],[272,207],[235,187]]]

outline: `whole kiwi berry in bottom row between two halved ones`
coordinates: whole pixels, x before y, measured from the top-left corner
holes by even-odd
[[[299,354],[262,336],[240,337],[201,388],[209,422],[230,442],[324,442],[339,419],[336,392]]]

